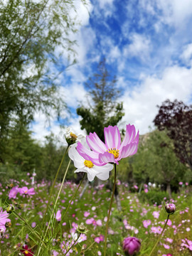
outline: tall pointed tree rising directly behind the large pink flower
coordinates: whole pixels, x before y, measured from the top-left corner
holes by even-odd
[[[96,132],[104,141],[103,129],[109,125],[116,125],[124,116],[122,102],[117,102],[119,90],[115,78],[111,78],[105,65],[105,59],[95,73],[87,82],[88,95],[90,96],[89,107],[80,106],[77,114],[82,117],[81,129],[87,134]]]

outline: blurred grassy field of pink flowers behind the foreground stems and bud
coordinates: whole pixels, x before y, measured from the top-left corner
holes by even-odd
[[[40,241],[33,231],[41,237],[47,227],[44,241],[48,250],[43,247],[41,255],[103,255],[107,210],[112,193],[105,186],[107,181],[100,186],[93,186],[93,183],[90,183],[82,198],[79,198],[84,187],[82,183],[68,213],[63,218],[65,209],[78,188],[75,183],[65,182],[55,206],[55,214],[49,224],[54,209],[54,199],[51,199],[48,206],[50,183],[42,181],[31,186],[28,177],[25,181],[11,183],[14,184],[13,188],[9,188],[6,183],[1,184],[1,255],[38,255],[37,244]],[[159,202],[158,205],[142,202],[139,193],[131,193],[127,183],[117,181],[117,186],[122,211],[118,212],[114,200],[107,235],[107,255],[124,255],[122,243],[124,238],[129,236],[139,238],[142,243],[138,255],[149,255],[167,218],[164,205]],[[56,183],[53,196],[58,193],[59,188],[60,184]],[[150,191],[150,188],[148,189]],[[173,195],[172,203],[176,205],[176,212],[170,215],[164,235],[152,255],[192,254],[190,190],[190,186],[183,186],[180,193]],[[166,201],[166,198],[164,200]],[[5,209],[9,205],[14,206],[14,210],[8,214]],[[47,206],[47,223],[43,227],[43,216]],[[4,223],[4,218],[9,220]],[[86,232],[77,231],[80,229],[80,223],[84,223],[85,227],[81,228],[86,228]],[[73,247],[70,249],[71,245]],[[67,252],[68,249],[70,250]]]

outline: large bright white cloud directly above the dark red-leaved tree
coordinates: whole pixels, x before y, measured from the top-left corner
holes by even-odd
[[[161,78],[149,76],[143,78],[141,85],[134,87],[132,92],[125,92],[124,123],[135,124],[141,134],[149,132],[158,109],[156,105],[166,100],[183,100],[188,102],[192,93],[192,68],[173,66],[166,68]]]

